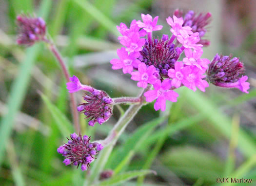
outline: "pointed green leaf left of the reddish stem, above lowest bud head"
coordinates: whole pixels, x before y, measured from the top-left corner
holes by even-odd
[[[41,93],[41,97],[50,113],[52,114],[54,120],[56,121],[56,125],[59,128],[62,136],[66,138],[73,131],[72,124],[67,119],[67,117],[62,112],[60,112],[59,109],[54,104],[52,104],[51,101],[43,93]]]

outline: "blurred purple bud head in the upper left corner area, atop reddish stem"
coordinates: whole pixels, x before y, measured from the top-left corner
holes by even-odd
[[[46,24],[42,18],[19,15],[16,19],[19,36],[18,44],[33,45],[36,41],[43,40],[46,33]]]

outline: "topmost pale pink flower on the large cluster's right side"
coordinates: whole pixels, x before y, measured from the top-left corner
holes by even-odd
[[[173,33],[174,36],[179,35],[180,30],[183,30],[187,34],[193,34],[193,32],[191,31],[192,28],[190,28],[189,26],[182,27],[182,24],[184,22],[183,18],[177,18],[176,16],[173,16],[173,19],[171,17],[168,17],[166,21],[172,27],[170,31]]]

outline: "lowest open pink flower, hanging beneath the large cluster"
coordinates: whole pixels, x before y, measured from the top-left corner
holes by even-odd
[[[157,99],[156,103],[154,104],[154,109],[158,111],[165,111],[166,108],[166,100],[176,102],[178,94],[172,90],[171,88],[171,80],[165,79],[163,80],[162,84],[161,81],[158,79],[156,83],[153,85],[155,90],[150,90],[144,93],[147,102],[152,102]]]

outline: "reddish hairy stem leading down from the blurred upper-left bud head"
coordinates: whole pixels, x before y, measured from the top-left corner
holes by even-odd
[[[59,53],[59,50],[49,40],[44,39],[44,41],[46,43],[50,44],[49,49],[52,52],[52,54],[56,57],[57,61],[59,62],[60,66],[61,66],[61,70],[62,70],[62,72],[63,72],[63,74],[65,76],[66,81],[69,82],[70,74],[68,72],[68,69],[67,69],[64,61],[63,61],[63,57]],[[76,132],[79,134],[79,132],[80,132],[79,114],[77,112],[77,104],[76,104],[75,94],[74,93],[70,93],[69,96],[70,96],[70,108],[71,108],[71,112],[72,112],[72,116],[73,116],[73,123],[75,125]]]

